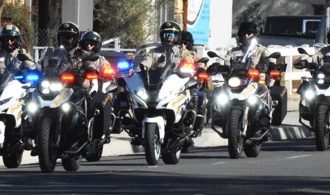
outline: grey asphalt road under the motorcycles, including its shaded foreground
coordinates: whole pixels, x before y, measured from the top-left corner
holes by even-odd
[[[177,165],[146,165],[142,153],[83,162],[78,172],[58,164],[0,168],[1,193],[17,194],[277,194],[330,193],[330,151],[312,139],[270,142],[257,158],[229,159],[226,146],[195,148]]]

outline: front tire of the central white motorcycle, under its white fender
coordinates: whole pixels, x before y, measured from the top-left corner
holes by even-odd
[[[157,133],[157,124],[145,125],[144,150],[148,165],[156,165],[160,158],[161,144]]]

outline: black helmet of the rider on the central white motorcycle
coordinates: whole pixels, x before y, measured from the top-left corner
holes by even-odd
[[[176,22],[173,21],[165,22],[160,27],[160,40],[162,43],[168,43],[166,40],[168,36],[174,36],[173,42],[179,43],[180,34],[181,34],[181,28],[179,24]]]

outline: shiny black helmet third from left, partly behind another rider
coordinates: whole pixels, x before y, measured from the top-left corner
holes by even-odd
[[[98,53],[102,45],[101,36],[97,32],[87,31],[81,36],[79,41],[79,46],[81,49],[85,50],[86,44],[90,42],[92,42],[95,45],[92,52]]]

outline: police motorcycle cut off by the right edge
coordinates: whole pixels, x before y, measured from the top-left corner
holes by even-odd
[[[303,48],[300,54],[310,56]],[[316,149],[324,151],[329,145],[330,124],[330,63],[327,56],[316,63],[301,61],[295,68],[306,68],[311,77],[302,77],[297,93],[299,101],[299,122],[315,133]],[[308,123],[306,123],[306,121]]]

